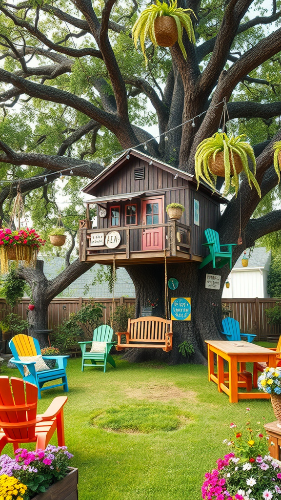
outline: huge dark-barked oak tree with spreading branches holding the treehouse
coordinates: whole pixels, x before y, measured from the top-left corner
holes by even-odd
[[[183,36],[185,60],[177,43],[170,50],[148,44],[145,68],[130,37],[136,0],[0,1],[0,106],[4,115],[0,165],[5,176],[21,177],[25,199],[34,190],[46,199],[57,171],[65,170],[67,176],[73,168],[75,176],[93,178],[103,168],[98,158],[109,163],[114,152],[149,139],[150,155],[194,173],[196,146],[218,129],[219,103],[224,98],[234,128],[247,131],[255,119],[255,130],[263,130],[261,138],[256,134],[258,143],[252,143],[262,197],[276,186],[272,142],[281,139],[277,121],[280,79],[275,77],[281,65],[280,2],[272,0],[270,12],[253,0],[178,0],[178,6],[192,8],[197,16],[196,45]],[[194,127],[191,118],[198,115]],[[159,134],[177,128],[167,133],[167,141],[162,135],[158,142],[145,130],[153,122]],[[249,128],[253,130],[252,125]],[[253,142],[254,133],[248,135]],[[48,174],[46,184],[42,174]],[[16,187],[17,180],[1,186],[2,218]],[[217,227],[221,242],[238,238],[240,218],[246,247],[280,229],[279,209],[252,217],[258,203],[255,189],[250,190],[241,176],[239,195],[231,198]],[[234,261],[240,250],[235,247]],[[90,266],[78,260],[68,264],[51,281],[42,269],[20,271],[33,288],[36,327],[45,327],[49,301]],[[191,296],[192,301],[191,321],[174,323],[171,362],[183,360],[177,345],[185,339],[195,346],[193,360],[205,362],[204,339],[219,338],[221,290],[205,289],[206,269],[198,271],[196,264],[168,267],[169,275],[179,279],[179,295]],[[129,266],[127,270],[136,287],[137,311],[155,296],[160,311],[163,266]],[[224,282],[229,269],[224,266],[216,272]],[[135,350],[128,355],[147,355]]]

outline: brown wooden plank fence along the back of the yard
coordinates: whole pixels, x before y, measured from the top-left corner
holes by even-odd
[[[106,308],[103,310],[103,321],[107,322],[110,316],[112,307],[112,298],[95,299],[96,302],[102,303]],[[83,303],[88,303],[87,298],[54,298],[48,307],[48,328],[54,329],[57,325],[67,320],[70,312],[76,312],[80,309]],[[222,300],[223,303],[232,310],[230,316],[237,319],[240,324],[241,331],[245,333],[255,333],[257,340],[265,339],[266,336],[278,337],[281,334],[281,327],[267,324],[264,309],[273,307],[276,302],[281,302],[281,299],[274,298],[228,298]],[[13,309],[13,312],[26,319],[26,311],[29,300],[22,299],[18,306]],[[114,298],[114,308],[117,305],[125,304],[126,306],[135,303],[133,297],[116,297]],[[5,308],[5,301],[0,298],[0,310]]]

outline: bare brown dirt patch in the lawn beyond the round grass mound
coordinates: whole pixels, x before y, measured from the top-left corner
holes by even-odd
[[[125,393],[128,397],[148,399],[150,401],[185,399],[194,402],[196,400],[196,392],[179,389],[176,385],[168,381],[165,384],[157,382],[138,382],[135,386],[126,388]]]

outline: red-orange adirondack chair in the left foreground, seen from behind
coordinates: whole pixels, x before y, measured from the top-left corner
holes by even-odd
[[[57,396],[42,415],[36,415],[37,386],[21,378],[0,376],[0,453],[12,443],[14,451],[20,443],[35,442],[45,449],[55,429],[59,446],[64,446],[63,406],[67,396]]]

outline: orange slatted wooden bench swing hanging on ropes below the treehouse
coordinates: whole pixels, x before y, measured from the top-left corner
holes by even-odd
[[[156,316],[128,319],[127,331],[118,331],[116,350],[125,347],[158,347],[165,352],[172,349],[172,321]],[[121,336],[126,336],[125,343],[121,343]]]

